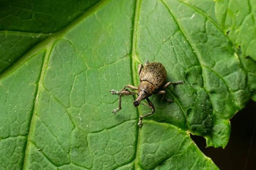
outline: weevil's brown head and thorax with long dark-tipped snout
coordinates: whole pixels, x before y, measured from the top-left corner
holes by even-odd
[[[140,85],[138,87],[138,96],[137,96],[137,99],[134,100],[133,105],[135,107],[140,105],[140,102],[142,100],[144,100],[145,98],[147,98],[153,94],[154,89],[155,89],[155,87],[151,83],[149,83],[147,81],[140,82]]]

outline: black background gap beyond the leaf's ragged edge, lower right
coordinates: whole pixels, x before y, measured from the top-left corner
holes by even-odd
[[[256,102],[250,100],[230,122],[231,135],[225,149],[206,147],[201,136],[191,138],[220,170],[256,170]]]

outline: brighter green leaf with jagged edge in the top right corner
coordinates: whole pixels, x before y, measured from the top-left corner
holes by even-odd
[[[256,61],[255,0],[184,0],[189,6],[209,16],[227,34],[244,57]]]

